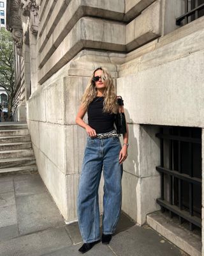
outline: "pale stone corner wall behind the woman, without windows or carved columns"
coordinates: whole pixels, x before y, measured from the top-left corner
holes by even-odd
[[[77,220],[86,138],[75,116],[89,76],[99,66],[115,79],[129,123],[122,210],[143,224],[159,209],[159,125],[203,126],[203,19],[177,29],[175,17],[183,4],[41,1],[38,86],[27,101],[27,120],[38,170],[67,222]],[[103,180],[101,199],[102,187]]]

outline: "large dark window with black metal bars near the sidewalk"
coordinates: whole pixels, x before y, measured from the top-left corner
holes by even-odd
[[[179,221],[201,228],[201,129],[161,127],[160,139],[161,210],[179,216]]]

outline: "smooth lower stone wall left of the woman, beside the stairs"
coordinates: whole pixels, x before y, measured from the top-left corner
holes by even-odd
[[[78,188],[79,164],[85,134],[76,132],[73,110],[78,107],[75,93],[82,95],[81,77],[55,77],[45,86],[36,90],[27,102],[27,119],[34,146],[38,171],[50,194],[66,221],[76,220],[76,196]],[[78,86],[80,84],[80,86]],[[71,90],[75,86],[78,90]],[[72,118],[71,118],[72,117]],[[82,145],[78,149],[78,145]],[[75,148],[77,148],[76,151]]]

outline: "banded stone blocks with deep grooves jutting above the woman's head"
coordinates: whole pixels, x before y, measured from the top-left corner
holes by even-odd
[[[135,16],[129,13],[132,8],[126,12],[125,1],[119,0],[42,5],[37,39],[39,83],[84,48],[126,52],[160,36],[162,1],[137,2]]]

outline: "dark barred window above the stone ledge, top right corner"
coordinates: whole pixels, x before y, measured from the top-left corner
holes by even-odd
[[[176,24],[185,25],[203,15],[204,0],[185,0],[185,13],[176,19]]]

